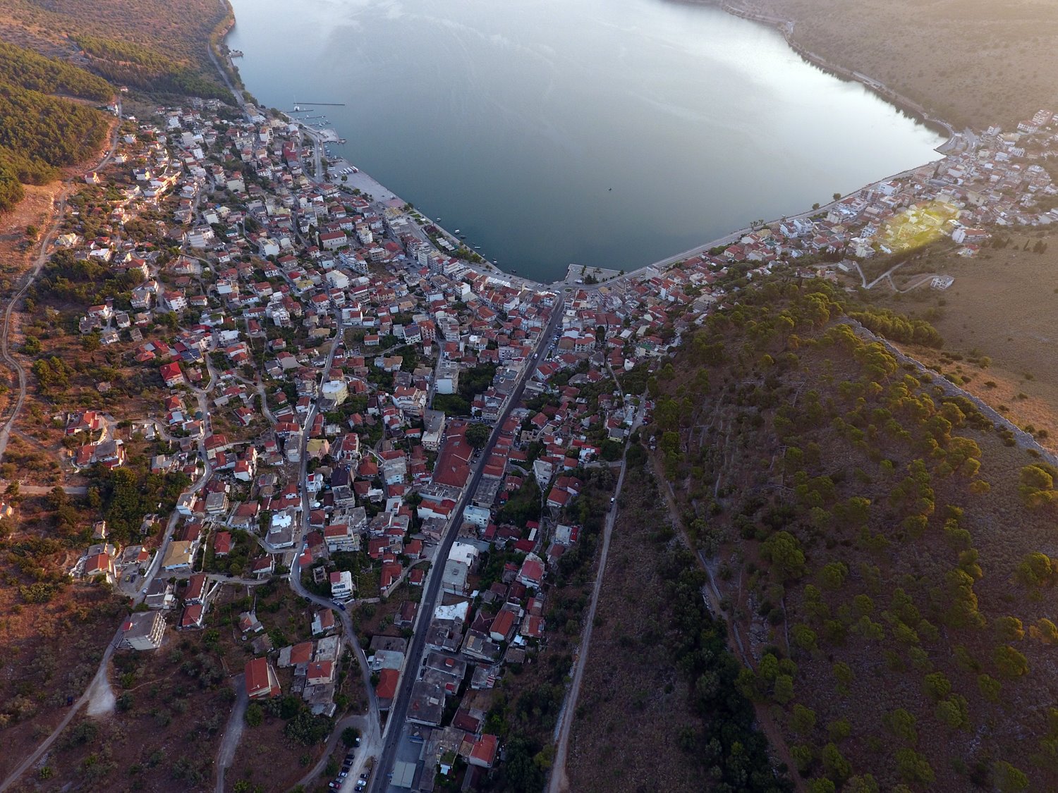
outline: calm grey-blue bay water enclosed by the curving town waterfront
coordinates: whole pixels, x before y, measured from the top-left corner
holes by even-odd
[[[234,0],[269,107],[504,270],[631,270],[938,155],[782,36],[667,0]]]

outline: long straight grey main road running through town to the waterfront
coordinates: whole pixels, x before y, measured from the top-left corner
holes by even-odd
[[[430,622],[433,619],[434,608],[437,606],[437,597],[441,590],[441,579],[442,575],[438,571],[438,568],[443,570],[444,560],[449,557],[449,552],[452,550],[452,543],[455,541],[456,536],[459,534],[459,527],[461,525],[461,516],[463,509],[467,503],[473,497],[474,492],[477,490],[478,483],[481,481],[481,474],[485,471],[485,461],[489,459],[489,455],[492,454],[493,447],[496,445],[496,441],[499,439],[499,432],[504,424],[510,418],[511,411],[514,409],[522,401],[522,394],[525,391],[526,381],[532,376],[532,373],[536,370],[536,366],[540,364],[541,357],[544,355],[544,351],[550,344],[551,336],[554,334],[555,328],[562,318],[564,298],[560,294],[555,298],[554,309],[551,312],[551,319],[547,324],[547,328],[541,334],[540,340],[536,343],[536,351],[533,356],[526,362],[525,369],[522,371],[522,376],[518,379],[517,385],[511,392],[510,399],[507,401],[507,405],[504,407],[503,412],[496,420],[496,424],[492,429],[492,435],[489,436],[489,441],[486,443],[485,447],[481,449],[481,454],[474,464],[473,473],[471,474],[470,480],[467,482],[467,486],[463,487],[462,495],[459,497],[459,502],[456,504],[456,509],[452,512],[452,518],[449,520],[449,525],[444,532],[444,539],[441,540],[441,546],[438,549],[437,556],[434,557],[434,570],[426,584],[426,591],[423,592],[422,603],[419,608],[419,624],[415,635],[412,638],[412,645],[408,648],[407,656],[405,656],[404,670],[401,674],[400,683],[397,687],[397,694],[394,697],[393,706],[389,708],[389,718],[386,721],[386,731],[383,737],[382,743],[382,756],[378,764],[378,773],[375,774],[371,780],[371,792],[372,793],[383,793],[389,787],[389,772],[393,771],[394,758],[397,753],[397,744],[401,739],[403,733],[404,720],[407,716],[408,704],[412,700],[412,686],[415,684],[416,671],[419,668],[419,663],[422,659],[422,653],[426,646],[426,631],[430,628]]]

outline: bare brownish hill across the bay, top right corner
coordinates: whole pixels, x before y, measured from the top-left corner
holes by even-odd
[[[733,0],[730,5],[792,20],[795,44],[880,80],[957,128],[1009,129],[1054,95],[1058,16],[1044,0]]]

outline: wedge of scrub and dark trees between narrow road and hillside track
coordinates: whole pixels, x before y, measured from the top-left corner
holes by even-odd
[[[790,790],[734,688],[726,626],[634,446],[570,738],[569,790]]]

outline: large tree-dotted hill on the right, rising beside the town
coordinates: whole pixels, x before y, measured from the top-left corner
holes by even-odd
[[[810,285],[808,285],[810,284]],[[746,287],[650,384],[740,689],[814,793],[1058,789],[1058,472],[826,283]]]

